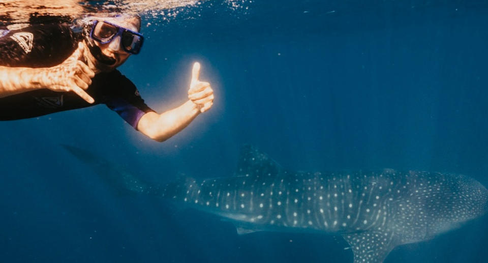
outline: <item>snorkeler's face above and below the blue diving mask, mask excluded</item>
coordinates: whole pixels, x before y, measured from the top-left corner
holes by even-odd
[[[118,25],[120,27],[127,28],[128,30],[139,32],[140,21],[136,18],[104,18],[104,21]],[[103,57],[98,59],[92,56],[92,61],[99,70],[101,71],[111,71],[118,66],[122,65],[129,57],[130,53],[124,50],[120,45],[122,36],[116,36],[113,40],[108,43],[101,43],[99,41],[94,41],[95,45],[100,48]]]

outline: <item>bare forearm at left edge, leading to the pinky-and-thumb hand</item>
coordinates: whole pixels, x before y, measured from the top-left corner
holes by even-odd
[[[0,66],[0,98],[40,89],[38,72],[39,69],[33,68]]]

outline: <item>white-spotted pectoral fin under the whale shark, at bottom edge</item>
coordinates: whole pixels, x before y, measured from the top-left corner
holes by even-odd
[[[397,245],[393,233],[387,231],[345,233],[342,236],[351,246],[354,263],[382,263]]]

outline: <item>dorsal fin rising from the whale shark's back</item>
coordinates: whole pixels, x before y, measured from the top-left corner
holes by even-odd
[[[280,170],[281,166],[267,154],[252,145],[242,147],[237,163],[237,176],[276,176]]]

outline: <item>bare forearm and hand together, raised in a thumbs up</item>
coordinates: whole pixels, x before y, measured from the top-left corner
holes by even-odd
[[[208,82],[198,80],[200,64],[195,63],[192,82],[188,91],[189,101],[161,114],[147,112],[137,124],[137,129],[149,138],[165,141],[187,127],[198,114],[214,104],[214,91]]]

